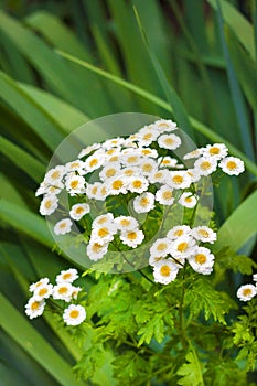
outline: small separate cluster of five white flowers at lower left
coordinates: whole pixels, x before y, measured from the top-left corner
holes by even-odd
[[[55,300],[63,300],[71,303],[77,299],[81,287],[73,286],[73,281],[78,278],[77,270],[69,268],[62,270],[56,276],[55,286],[50,283],[49,278],[40,279],[30,286],[32,297],[25,304],[25,313],[30,319],[43,314],[46,300],[52,297]],[[63,312],[63,320],[67,325],[78,325],[86,319],[85,308],[81,304],[71,303]]]

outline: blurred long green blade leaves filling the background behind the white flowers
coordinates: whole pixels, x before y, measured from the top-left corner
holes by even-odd
[[[215,190],[221,239],[239,206],[232,247],[254,257],[257,1],[7,0],[0,46],[0,379],[78,385],[71,337],[23,312],[29,282],[68,267],[34,197],[51,154],[89,119],[122,111],[174,119],[199,146],[225,142],[247,172]]]

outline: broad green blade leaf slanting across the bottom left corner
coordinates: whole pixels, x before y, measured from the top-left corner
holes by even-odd
[[[75,378],[72,367],[52,346],[33,329],[20,312],[0,293],[1,328],[22,349],[36,360],[62,386],[79,386],[82,382]],[[17,328],[19,325],[19,329]],[[22,333],[21,333],[22,332]]]

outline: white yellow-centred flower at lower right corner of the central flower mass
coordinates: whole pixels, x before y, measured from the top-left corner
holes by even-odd
[[[210,275],[213,271],[214,255],[205,247],[196,247],[188,260],[195,272]]]

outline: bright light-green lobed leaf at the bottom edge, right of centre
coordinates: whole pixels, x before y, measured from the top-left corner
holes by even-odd
[[[178,369],[178,375],[182,378],[178,380],[178,385],[182,386],[204,386],[202,365],[197,358],[195,351],[192,349],[185,355],[186,362]]]

